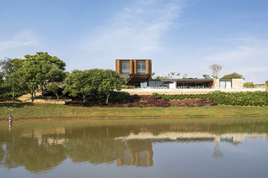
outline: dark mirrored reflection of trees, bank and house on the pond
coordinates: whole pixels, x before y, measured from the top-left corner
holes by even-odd
[[[219,143],[267,140],[268,118],[0,123],[0,170],[23,166],[38,173],[72,163],[153,167],[155,144],[212,143],[212,158],[223,158]],[[168,150],[168,146],[165,146]],[[168,151],[165,153],[168,154]]]

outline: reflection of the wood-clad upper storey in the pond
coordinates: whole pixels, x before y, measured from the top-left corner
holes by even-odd
[[[124,143],[123,154],[116,160],[117,166],[136,166],[151,167],[153,166],[153,151],[149,139],[146,140],[129,140]]]

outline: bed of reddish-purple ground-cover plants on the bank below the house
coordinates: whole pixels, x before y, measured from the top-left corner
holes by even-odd
[[[111,102],[107,105],[89,101],[84,104],[83,101],[72,101],[69,106],[85,106],[85,107],[195,107],[195,106],[214,106],[212,100],[205,98],[183,99],[183,100],[161,100],[154,99],[147,95],[141,95],[139,99],[128,99],[121,102]]]

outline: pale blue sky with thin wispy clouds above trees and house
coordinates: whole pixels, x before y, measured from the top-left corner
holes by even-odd
[[[0,59],[48,52],[66,70],[152,59],[156,75],[268,80],[268,0],[0,0]]]

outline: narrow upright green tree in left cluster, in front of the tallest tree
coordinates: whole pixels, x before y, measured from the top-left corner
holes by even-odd
[[[40,73],[40,68],[34,62],[26,63],[17,70],[20,87],[26,89],[31,94],[31,101],[35,98],[35,89],[38,88],[39,81],[36,78]]]

